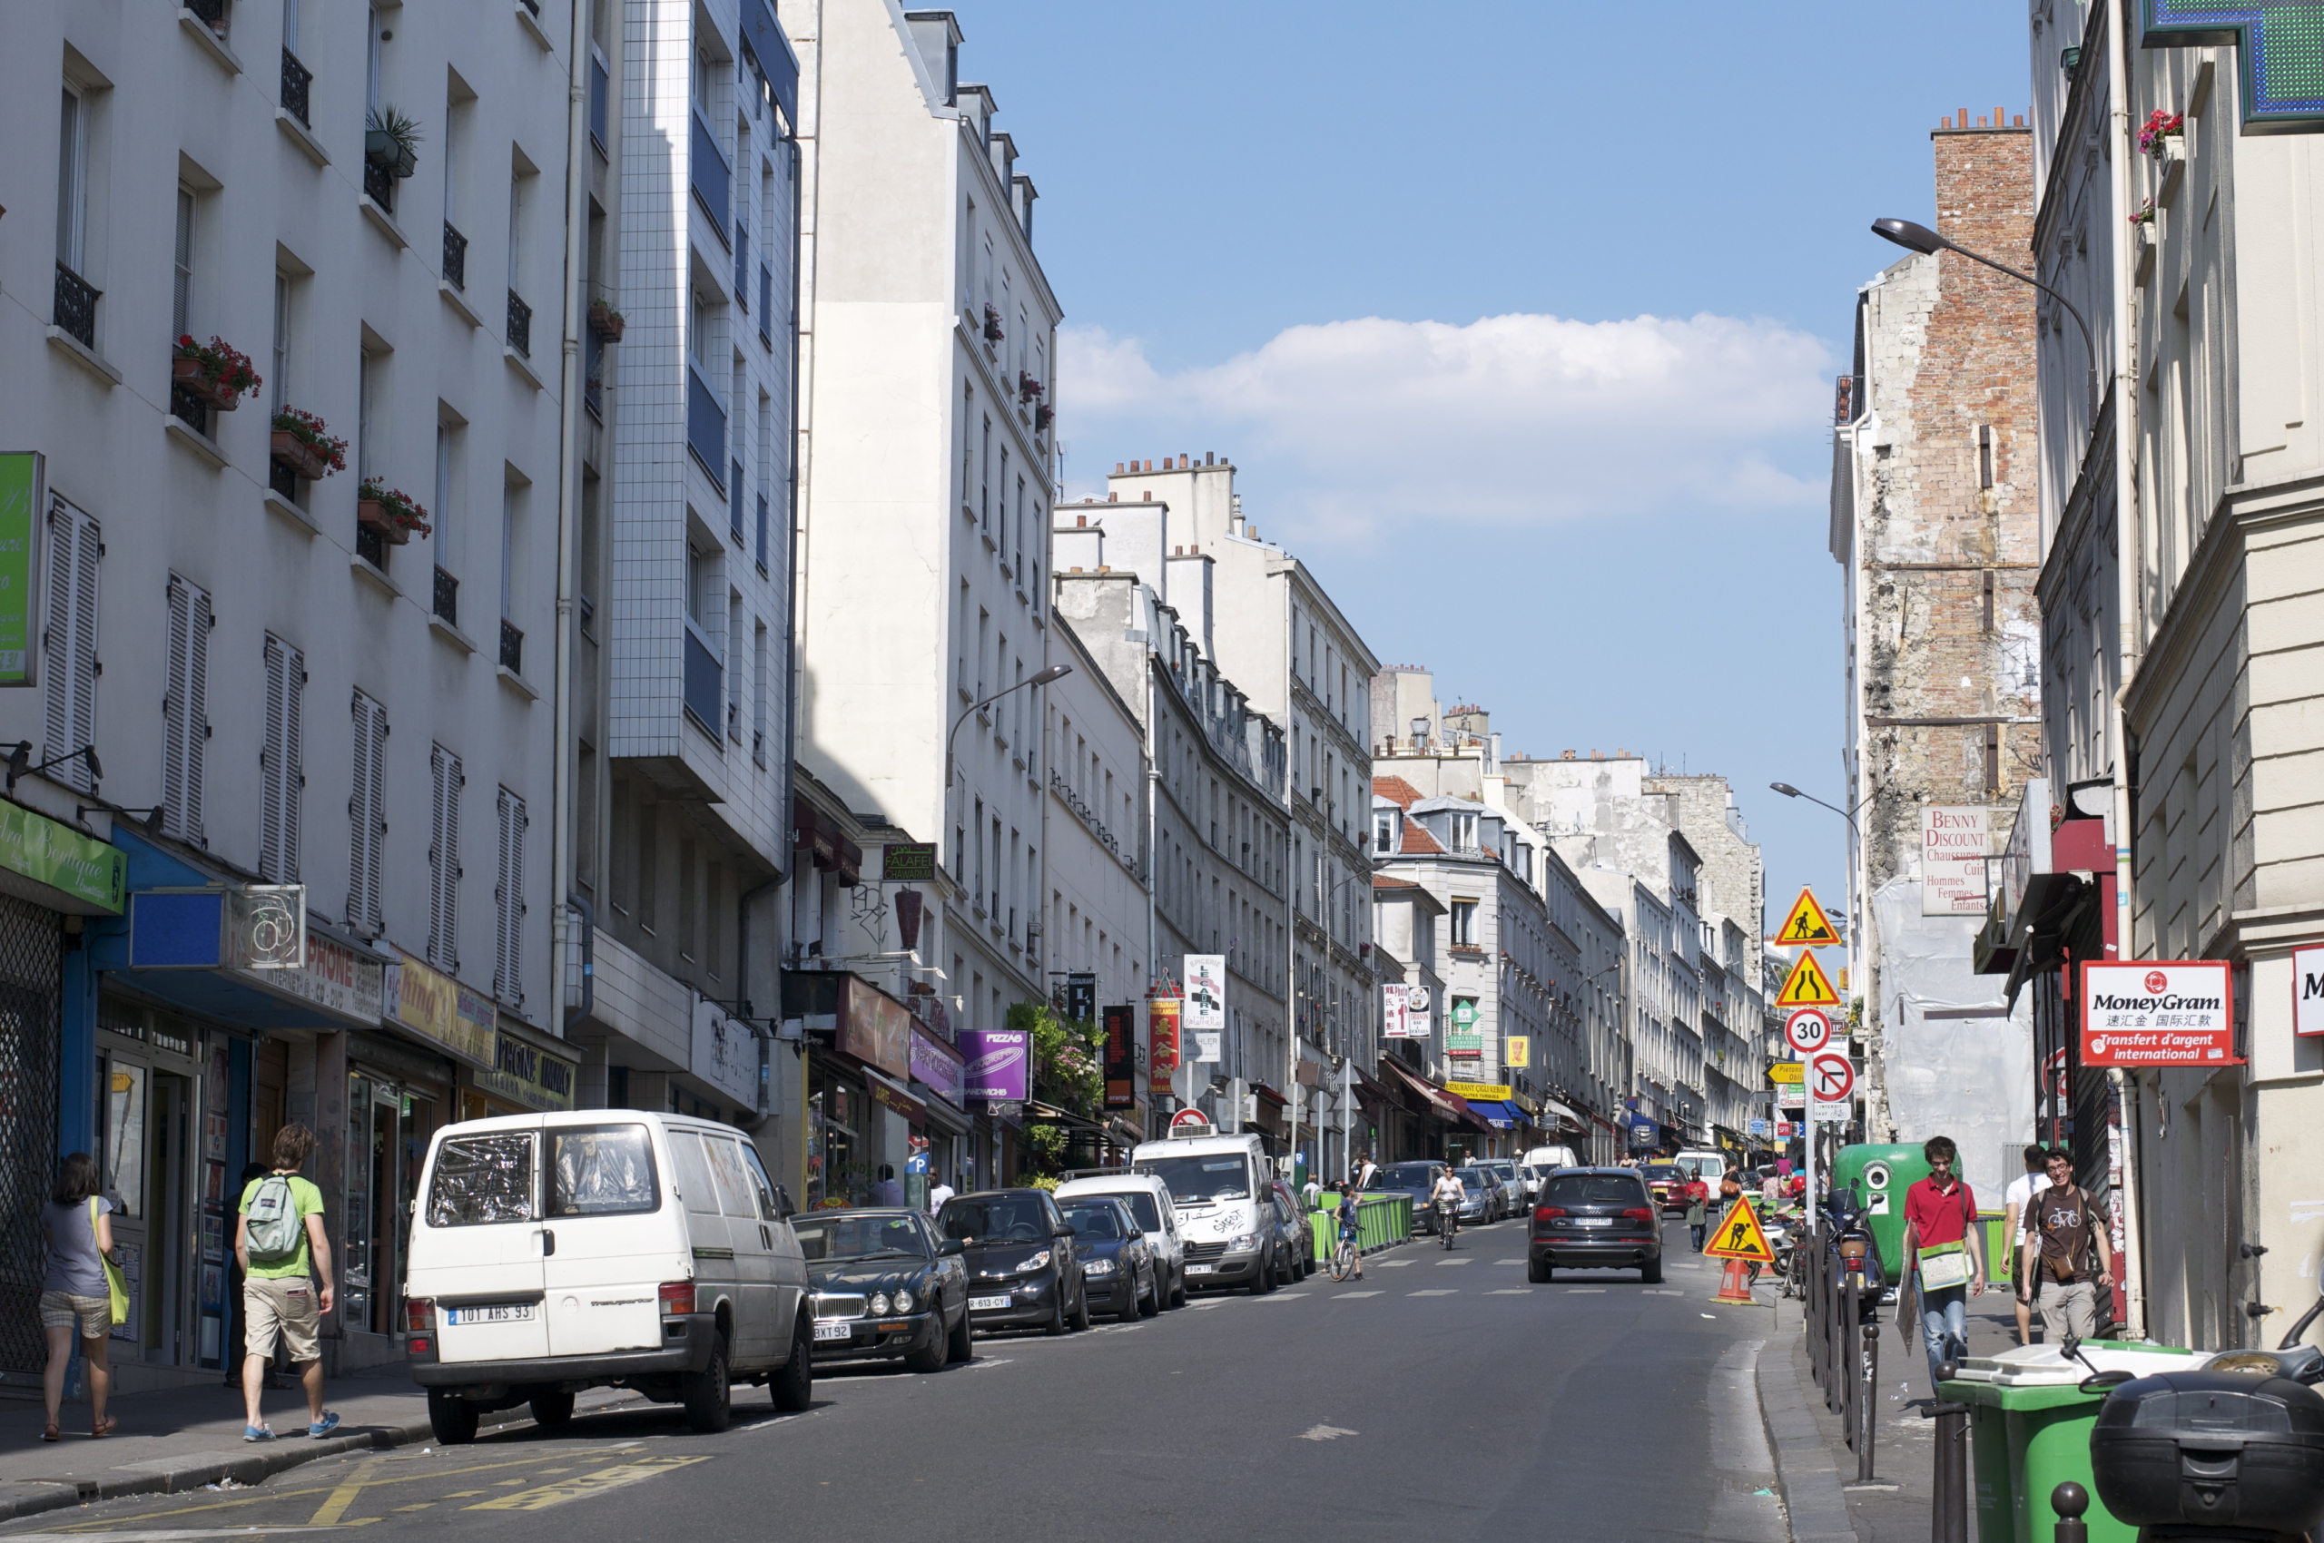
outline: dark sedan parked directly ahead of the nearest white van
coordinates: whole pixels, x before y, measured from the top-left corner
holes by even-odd
[[[806,1255],[816,1359],[902,1359],[944,1371],[974,1357],[962,1246],[918,1211],[813,1211],[790,1229]]]

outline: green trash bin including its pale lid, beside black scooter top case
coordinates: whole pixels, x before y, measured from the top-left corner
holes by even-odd
[[[2187,1371],[2192,1350],[2085,1341],[2082,1355],[2101,1371]],[[1968,1485],[1978,1543],[2052,1543],[2057,1513],[2050,1492],[2068,1478],[2089,1492],[2082,1522],[2092,1543],[2138,1543],[2138,1529],[2117,1522],[2089,1476],[2089,1431],[2103,1392],[2082,1392],[2089,1366],[2066,1362],[2052,1345],[2024,1345],[1996,1357],[1971,1357],[1959,1380],[1938,1392],[1968,1406]]]

